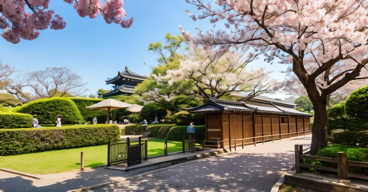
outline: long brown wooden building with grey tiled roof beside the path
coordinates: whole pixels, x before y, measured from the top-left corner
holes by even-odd
[[[200,106],[183,110],[205,114],[207,147],[228,148],[229,144],[246,145],[309,134],[313,115],[294,107],[292,103],[260,97],[245,102],[209,98]]]

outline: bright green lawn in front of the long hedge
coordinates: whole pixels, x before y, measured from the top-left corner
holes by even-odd
[[[148,157],[163,155],[164,139],[148,140]],[[167,152],[181,151],[181,142],[167,141]],[[80,168],[80,152],[84,152],[84,167],[107,163],[107,145],[0,156],[0,168],[29,174],[69,172]]]

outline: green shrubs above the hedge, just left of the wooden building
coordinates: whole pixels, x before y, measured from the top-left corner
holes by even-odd
[[[168,111],[165,119],[177,125],[189,125],[189,123],[194,123],[198,125],[204,124],[203,114],[188,113],[187,111],[179,111],[173,115],[171,115],[171,112]]]

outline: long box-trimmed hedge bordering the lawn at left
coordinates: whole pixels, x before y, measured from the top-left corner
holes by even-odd
[[[117,125],[0,129],[0,156],[103,145],[120,140]]]

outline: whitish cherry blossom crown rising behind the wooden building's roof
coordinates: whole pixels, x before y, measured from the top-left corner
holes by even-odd
[[[220,98],[234,92],[249,92],[242,100],[278,89],[276,80],[269,78],[264,68],[246,69],[246,65],[260,54],[236,51],[204,50],[191,46],[192,51],[180,61],[178,69],[171,69],[164,79],[168,84],[177,81],[193,81],[197,93],[203,99]]]

